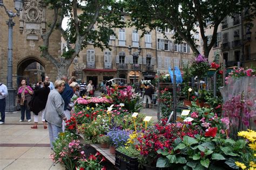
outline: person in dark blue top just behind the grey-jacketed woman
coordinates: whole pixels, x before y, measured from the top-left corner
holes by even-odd
[[[63,98],[63,100],[65,102],[65,104],[64,104],[64,114],[65,114],[66,118],[69,120],[70,117],[71,117],[71,115],[70,115],[70,111],[71,110],[68,109],[68,104],[70,103],[71,98],[73,97],[74,93],[73,93],[73,89],[67,83],[68,77],[66,75],[63,75],[61,77],[61,79],[66,82],[65,83],[65,89],[61,93],[61,96],[62,96],[62,98]],[[63,131],[64,131],[66,123],[63,121],[62,124],[63,124],[62,128],[63,128]]]

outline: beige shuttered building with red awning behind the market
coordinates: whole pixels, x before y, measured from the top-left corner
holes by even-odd
[[[127,22],[129,15],[123,13],[120,18]],[[182,68],[182,62],[188,62],[192,58],[190,47],[183,44],[174,44],[173,32],[167,29],[166,36],[157,30],[153,30],[144,37],[141,31],[135,27],[115,29],[117,38],[110,37],[109,49],[101,51],[93,45],[87,46],[79,53],[79,58],[73,61],[69,68],[69,74],[83,79],[85,82],[93,81],[95,86],[103,80],[110,80],[116,77],[127,79],[128,83],[139,82],[140,80],[152,80],[157,70],[168,72],[169,67],[178,66]],[[62,43],[65,44],[65,43]],[[132,47],[132,55],[129,53],[129,46]],[[138,48],[141,53],[138,55]]]

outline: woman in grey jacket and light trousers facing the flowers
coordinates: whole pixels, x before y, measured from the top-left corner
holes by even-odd
[[[53,142],[58,138],[58,134],[62,132],[62,121],[66,121],[64,114],[65,102],[60,95],[65,89],[65,81],[56,80],[55,89],[50,91],[46,102],[44,119],[48,122],[50,145],[53,148]]]

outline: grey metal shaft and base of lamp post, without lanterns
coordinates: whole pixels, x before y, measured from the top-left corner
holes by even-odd
[[[11,12],[11,11],[10,11]],[[7,66],[7,88],[8,96],[6,97],[6,112],[16,111],[15,107],[15,90],[12,87],[12,28],[15,23],[12,17],[6,22],[8,25],[8,66]]]

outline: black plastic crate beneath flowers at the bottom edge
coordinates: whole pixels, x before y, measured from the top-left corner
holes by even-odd
[[[115,166],[122,170],[138,170],[138,158],[131,158],[116,150]]]

